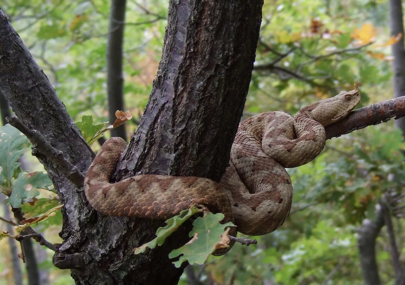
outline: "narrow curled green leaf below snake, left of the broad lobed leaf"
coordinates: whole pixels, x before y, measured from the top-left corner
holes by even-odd
[[[166,226],[158,228],[156,231],[156,238],[148,243],[145,243],[139,247],[134,248],[134,253],[143,253],[146,249],[154,249],[157,245],[163,244],[164,240],[170,236],[181,224],[183,224],[188,218],[194,215],[196,212],[201,212],[201,208],[197,206],[191,206],[189,209],[183,210],[177,216],[174,216],[166,221]]]

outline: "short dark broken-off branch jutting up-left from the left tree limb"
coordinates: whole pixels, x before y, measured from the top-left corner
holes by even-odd
[[[58,166],[60,171],[68,178],[73,184],[81,188],[84,182],[84,175],[77,169],[75,165],[72,165],[64,156],[63,152],[55,149],[45,137],[36,130],[30,130],[23,124],[23,122],[17,118],[6,118],[7,122],[21,131],[32,142],[32,151],[35,153],[35,149],[40,151],[44,156],[51,160]]]

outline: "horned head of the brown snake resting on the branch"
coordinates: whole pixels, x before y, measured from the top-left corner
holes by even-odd
[[[335,97],[318,101],[309,105],[311,115],[323,126],[327,126],[345,118],[360,102],[360,91],[357,85],[351,91],[341,91]]]

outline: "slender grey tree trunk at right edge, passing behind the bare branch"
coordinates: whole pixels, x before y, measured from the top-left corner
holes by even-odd
[[[390,33],[393,36],[402,34],[402,38],[391,45],[392,56],[392,68],[394,70],[394,97],[405,96],[405,48],[404,48],[404,25],[403,25],[403,13],[402,13],[402,1],[401,0],[389,0],[390,7]],[[402,130],[405,135],[405,118],[395,120],[395,126]]]

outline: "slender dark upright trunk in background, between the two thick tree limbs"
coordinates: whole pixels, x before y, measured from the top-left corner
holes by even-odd
[[[113,124],[115,111],[124,110],[124,75],[122,53],[126,0],[112,0],[107,42],[107,90],[109,120]],[[125,125],[111,130],[111,136],[126,139]]]

